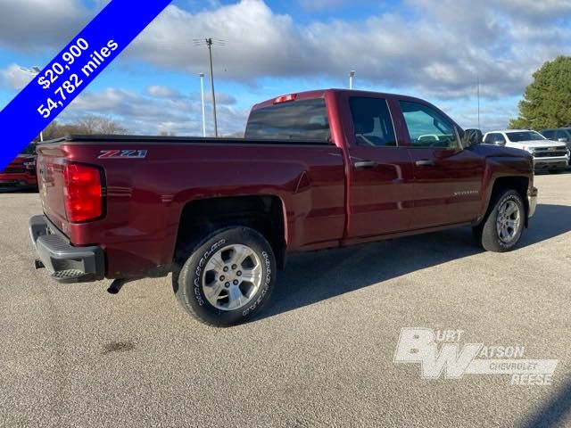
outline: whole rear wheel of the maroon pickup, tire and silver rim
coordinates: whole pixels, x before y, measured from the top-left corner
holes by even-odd
[[[260,233],[249,227],[227,227],[192,247],[175,264],[172,275],[175,295],[190,315],[204,324],[225,327],[246,321],[268,302],[277,267],[272,248]]]

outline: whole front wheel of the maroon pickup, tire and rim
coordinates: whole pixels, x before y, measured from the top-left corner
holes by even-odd
[[[519,193],[508,190],[493,200],[484,221],[474,227],[476,242],[486,251],[505,252],[519,242],[525,226],[525,206]]]

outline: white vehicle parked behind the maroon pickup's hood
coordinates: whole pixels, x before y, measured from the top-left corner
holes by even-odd
[[[567,144],[548,140],[539,132],[528,129],[507,129],[487,132],[484,144],[505,145],[531,153],[534,167],[547,169],[551,173],[564,171],[569,166]]]

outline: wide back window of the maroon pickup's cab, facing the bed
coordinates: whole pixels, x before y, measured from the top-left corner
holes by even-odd
[[[330,139],[325,99],[294,101],[252,111],[245,138]]]

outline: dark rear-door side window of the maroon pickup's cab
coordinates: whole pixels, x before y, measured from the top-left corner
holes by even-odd
[[[393,120],[386,100],[352,97],[349,99],[355,141],[370,147],[395,147]]]

